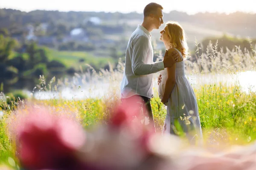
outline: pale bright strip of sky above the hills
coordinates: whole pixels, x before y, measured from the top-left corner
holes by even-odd
[[[198,12],[232,13],[236,11],[256,13],[256,0],[0,0],[0,8],[59,11],[138,12],[151,2],[163,6],[163,12],[172,10],[195,14]]]

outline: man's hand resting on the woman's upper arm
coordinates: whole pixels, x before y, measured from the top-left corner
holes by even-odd
[[[169,53],[169,55],[168,55]],[[175,49],[166,50],[166,53],[163,57],[164,68],[171,67],[174,63],[178,61],[180,54]]]

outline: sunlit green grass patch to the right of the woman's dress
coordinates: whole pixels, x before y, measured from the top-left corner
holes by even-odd
[[[256,140],[256,93],[241,92],[239,86],[202,86],[197,92],[202,128],[228,135],[231,144]]]

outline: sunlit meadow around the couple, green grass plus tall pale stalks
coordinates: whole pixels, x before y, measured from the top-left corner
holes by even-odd
[[[210,43],[206,47],[207,53],[200,54],[199,50],[197,50],[197,62],[186,61],[187,75],[212,76],[210,83],[197,82],[193,84],[204,133],[204,144],[206,147],[221,148],[231,145],[251,144],[256,141],[256,92],[250,89],[249,92],[243,91],[240,82],[228,84],[225,81],[217,82],[215,78],[221,74],[232,76],[237,72],[256,71],[256,47],[251,46],[252,52],[234,47],[232,51],[227,50],[224,53],[222,50],[217,51],[217,46],[218,44]],[[36,100],[33,98],[33,92],[31,98],[25,101],[12,102],[12,104],[7,104],[2,98],[1,102],[4,107],[0,110],[3,113],[0,118],[0,164],[6,164],[11,169],[19,169],[15,144],[10,140],[9,136],[12,124],[15,124],[17,107],[23,107],[24,114],[26,114],[26,108],[31,103],[49,107],[53,114],[56,112],[72,114],[88,131],[93,129],[95,124],[107,124],[106,120],[108,120],[113,106],[120,102],[119,86],[116,84],[121,81],[123,64],[119,63],[117,70],[102,70],[99,73],[93,72],[90,75],[92,82],[96,80],[102,81],[102,79],[111,82],[108,93],[101,98]],[[85,75],[88,74],[90,72],[85,73]],[[156,78],[157,75],[154,77],[157,82]],[[253,79],[253,77],[248,78]],[[83,76],[76,75],[74,79],[81,80]],[[65,86],[65,84],[60,83],[60,81],[44,82],[41,80],[41,89],[37,89],[40,89],[40,91],[61,92],[61,87]],[[72,84],[72,82],[74,81],[70,83]],[[84,82],[84,85],[87,84],[86,81],[81,82]],[[79,89],[81,86],[75,86],[75,88]],[[157,132],[161,132],[166,110],[157,97],[157,86],[155,85],[154,92],[156,97],[152,99],[151,106]],[[3,94],[1,95],[4,96]]]

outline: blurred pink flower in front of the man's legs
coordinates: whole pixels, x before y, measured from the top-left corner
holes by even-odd
[[[148,150],[148,140],[155,134],[154,124],[149,121],[145,103],[137,95],[123,100],[122,104],[116,106],[110,118],[110,126],[120,131],[125,130],[143,150]]]

